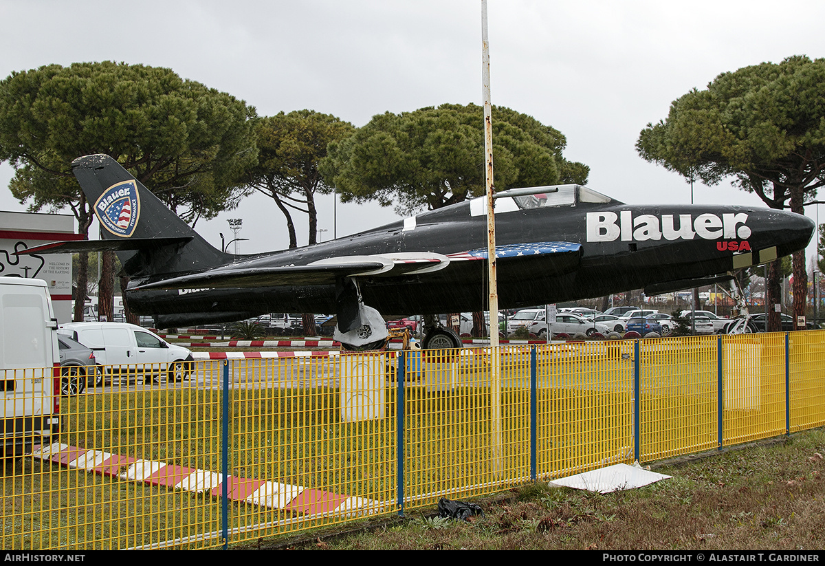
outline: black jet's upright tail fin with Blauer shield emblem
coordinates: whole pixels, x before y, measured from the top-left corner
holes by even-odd
[[[111,242],[131,279],[197,271],[231,261],[230,254],[213,248],[110,156],[77,158],[72,170],[101,223],[101,238]],[[141,244],[130,247],[124,244],[126,239]],[[158,245],[147,245],[152,239]]]

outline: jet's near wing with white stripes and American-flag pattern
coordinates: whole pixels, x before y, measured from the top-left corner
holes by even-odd
[[[520,243],[496,248],[502,262],[520,259],[549,262],[553,271],[575,271],[582,246],[569,242]],[[467,262],[484,261],[487,250],[444,256],[431,252],[389,252],[370,256],[329,257],[305,266],[256,266],[254,260],[186,276],[139,285],[136,289],[220,289],[281,285],[333,285],[340,277],[422,277],[434,271],[464,271]]]

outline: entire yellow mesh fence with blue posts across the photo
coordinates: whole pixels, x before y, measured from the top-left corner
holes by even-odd
[[[219,547],[825,424],[825,331],[111,370],[7,451],[2,548]]]

